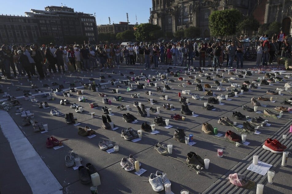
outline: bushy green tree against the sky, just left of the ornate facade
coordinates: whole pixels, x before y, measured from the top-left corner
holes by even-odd
[[[149,23],[139,24],[135,26],[136,30],[134,31],[134,35],[138,41],[149,41],[150,40],[150,32],[161,30],[158,25],[153,25]]]

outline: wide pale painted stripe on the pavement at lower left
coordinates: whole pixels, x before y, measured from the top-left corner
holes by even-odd
[[[43,193],[44,191],[61,193],[62,186],[11,116],[4,110],[0,110],[0,114],[1,118],[4,118],[0,121],[2,132],[9,141],[12,153],[33,193]],[[5,122],[3,122],[4,120]]]

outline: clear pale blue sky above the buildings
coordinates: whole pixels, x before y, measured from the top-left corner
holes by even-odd
[[[73,8],[76,12],[91,13],[96,18],[97,25],[109,24],[108,17],[111,18],[111,24],[120,21],[127,22],[129,16],[130,24],[136,24],[136,15],[138,24],[148,23],[151,0],[10,0],[1,3],[0,14],[7,15],[25,15],[30,9],[45,10],[46,6],[67,6]]]

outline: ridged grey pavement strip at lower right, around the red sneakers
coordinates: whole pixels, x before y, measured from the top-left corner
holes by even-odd
[[[290,126],[292,124],[292,120],[288,121],[285,125],[283,125],[280,129],[278,129],[278,131],[274,132],[273,135],[270,136],[270,138],[274,138],[274,137],[278,137],[277,139],[279,139],[282,136],[282,132],[287,131],[287,127]],[[280,136],[279,136],[280,134]],[[291,135],[290,135],[291,136]],[[282,143],[287,143],[287,149],[291,148],[291,142],[289,142],[289,138],[286,139],[286,141],[282,141]],[[290,144],[290,145],[289,145]],[[245,158],[242,159],[242,162],[237,163],[235,166],[233,166],[227,173],[225,173],[221,179],[226,180],[226,181],[222,181],[222,180],[217,180],[215,181],[212,185],[210,185],[203,193],[212,193],[212,191],[222,191],[224,189],[232,192],[236,192],[240,191],[241,192],[248,192],[245,191],[244,188],[240,188],[237,187],[235,185],[232,185],[229,180],[228,180],[228,175],[230,173],[243,173],[244,171],[247,172],[249,175],[251,175],[251,177],[249,177],[249,179],[251,179],[254,182],[259,182],[259,183],[264,183],[267,181],[266,176],[261,176],[258,175],[257,173],[254,173],[252,171],[247,171],[247,164],[251,163],[252,161],[252,157],[253,155],[259,155],[259,158],[269,158],[268,160],[266,160],[266,163],[269,162],[274,162],[274,161],[279,161],[282,158],[282,154],[274,154],[270,151],[263,151],[262,146],[258,146],[254,149],[254,151],[251,151],[250,154],[248,154]],[[260,159],[259,159],[260,160]],[[273,167],[279,166],[280,164],[277,164],[276,162],[274,162],[275,164],[273,165]],[[228,188],[228,189],[227,189]],[[233,190],[232,190],[233,189]],[[250,191],[250,193],[253,193],[252,191]]]

